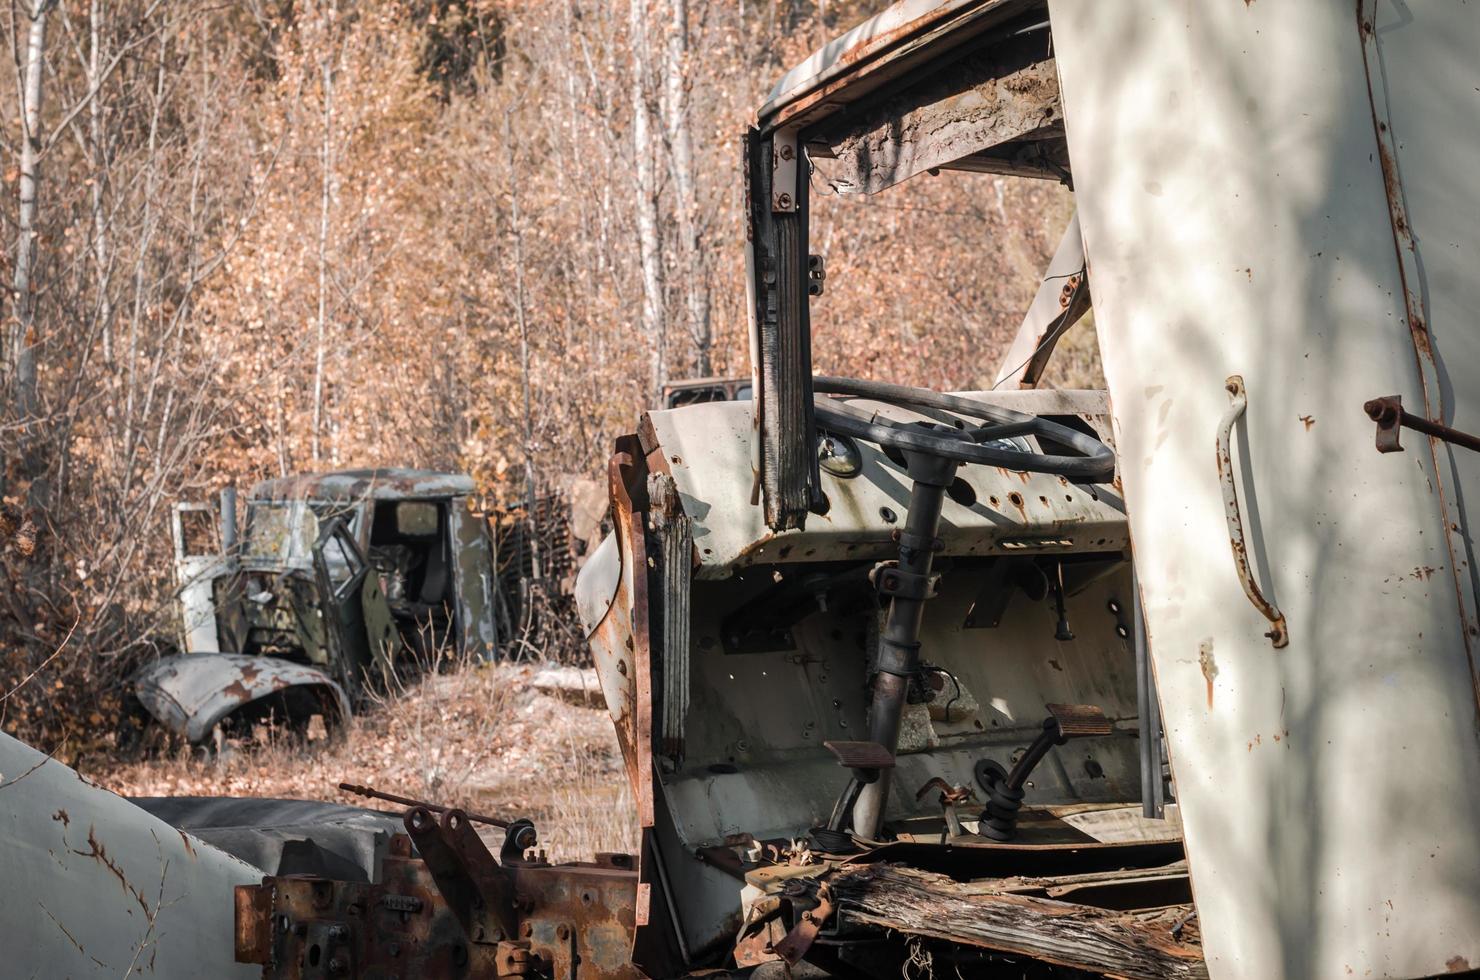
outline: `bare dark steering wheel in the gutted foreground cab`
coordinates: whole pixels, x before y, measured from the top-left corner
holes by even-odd
[[[944,395],[928,388],[909,388],[855,377],[813,377],[813,391],[824,395],[869,398],[934,419],[935,425],[900,422],[864,412],[836,398],[818,398],[814,406],[817,426],[851,435],[885,449],[909,450],[953,459],[961,463],[986,463],[1006,469],[1054,474],[1089,483],[1114,477],[1114,450],[1092,435],[1036,415],[990,406],[975,398]],[[966,419],[981,422],[969,425]],[[1014,435],[1037,435],[1074,450],[1077,456],[1018,452],[990,446]]]

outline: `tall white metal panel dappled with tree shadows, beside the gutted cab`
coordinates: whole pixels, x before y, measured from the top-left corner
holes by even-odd
[[[1452,552],[1468,463],[1372,452],[1375,394],[1480,415],[1480,13],[1291,0],[1051,0],[1076,204],[1211,976],[1480,965],[1480,743]],[[1113,56],[1109,53],[1113,52]],[[1373,67],[1369,98],[1369,67]],[[1375,126],[1373,102],[1382,107]],[[1382,121],[1424,262],[1416,330]],[[1214,459],[1248,558],[1245,597]],[[1443,499],[1442,499],[1443,497]],[[1458,576],[1456,576],[1458,568]]]

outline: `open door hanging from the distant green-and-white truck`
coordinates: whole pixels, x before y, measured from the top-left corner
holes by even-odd
[[[395,628],[380,577],[370,574],[370,563],[342,517],[329,521],[314,545],[314,577],[330,666],[355,699],[367,672],[389,677]]]

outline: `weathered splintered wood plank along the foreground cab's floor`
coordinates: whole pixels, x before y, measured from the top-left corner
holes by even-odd
[[[1020,953],[1113,977],[1208,976],[1202,947],[1172,936],[1178,916],[1134,915],[1017,894],[980,894],[898,865],[848,867],[829,881],[848,921]]]

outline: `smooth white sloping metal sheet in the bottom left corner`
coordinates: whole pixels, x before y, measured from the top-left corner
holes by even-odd
[[[7,977],[240,977],[232,890],[262,872],[0,736]]]

